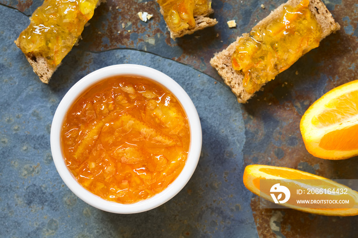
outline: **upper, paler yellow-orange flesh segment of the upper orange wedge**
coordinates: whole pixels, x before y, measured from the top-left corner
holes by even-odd
[[[312,117],[312,124],[317,128],[323,128],[349,120],[358,115],[358,90],[343,94],[332,99],[325,105],[325,110]]]

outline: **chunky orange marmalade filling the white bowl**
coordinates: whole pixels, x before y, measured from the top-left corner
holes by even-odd
[[[180,102],[140,76],[115,76],[81,94],[63,122],[66,165],[93,194],[122,204],[162,192],[181,173],[190,144]]]

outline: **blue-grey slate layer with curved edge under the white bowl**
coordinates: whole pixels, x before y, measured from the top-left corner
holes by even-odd
[[[77,48],[51,83],[42,84],[13,43],[27,17],[4,6],[0,15],[7,16],[0,26],[1,237],[257,236],[250,200],[245,199],[251,193],[242,184],[242,113],[226,86],[150,53]],[[104,212],[78,199],[62,182],[50,151],[52,118],[69,88],[96,69],[125,63],[158,69],[178,82],[195,104],[203,129],[202,156],[182,192],[135,215]]]

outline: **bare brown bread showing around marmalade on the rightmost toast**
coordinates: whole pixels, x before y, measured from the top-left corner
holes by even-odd
[[[296,6],[301,2],[301,0],[289,0],[286,4],[291,6]],[[257,26],[265,27],[273,19],[278,18],[280,13],[283,10],[283,5],[280,5],[274,11],[270,13],[269,16],[262,19],[257,23]],[[332,14],[327,10],[326,6],[320,0],[310,0],[308,5],[309,10],[317,19],[317,22],[321,26],[322,36],[321,40],[326,36],[340,29],[340,25],[334,21]],[[248,36],[249,34],[242,34],[242,37]],[[211,66],[213,66],[218,74],[222,77],[224,82],[231,88],[232,92],[236,95],[237,101],[239,103],[247,103],[247,101],[254,95],[254,93],[249,93],[245,91],[242,80],[242,72],[236,71],[232,67],[232,55],[236,50],[240,37],[236,39],[235,42],[231,43],[227,49],[221,51],[220,53],[215,54],[215,56],[210,60]],[[261,86],[263,86],[262,84]]]

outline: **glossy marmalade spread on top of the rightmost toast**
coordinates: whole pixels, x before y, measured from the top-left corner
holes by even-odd
[[[247,92],[254,93],[318,47],[322,30],[308,4],[309,0],[297,6],[286,4],[279,17],[239,39],[232,66],[244,74],[242,83]]]

